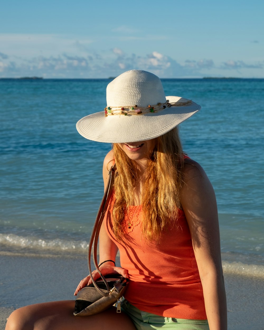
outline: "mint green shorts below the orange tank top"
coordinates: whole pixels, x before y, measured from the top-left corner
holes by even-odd
[[[209,330],[207,320],[185,320],[182,318],[163,317],[140,311],[127,300],[122,300],[121,311],[126,313],[137,330]]]

